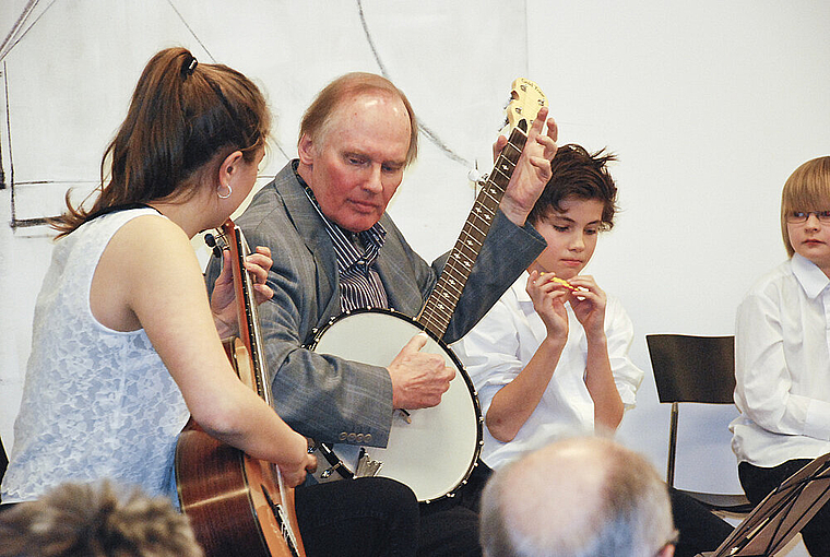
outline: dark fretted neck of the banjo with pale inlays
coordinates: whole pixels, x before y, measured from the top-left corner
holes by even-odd
[[[513,175],[524,143],[527,141],[526,126],[526,121],[521,120],[519,126],[510,132],[508,143],[478,192],[441,276],[417,318],[418,322],[438,339],[447,332],[461,293],[482,250],[484,239],[496,217],[496,211]]]

